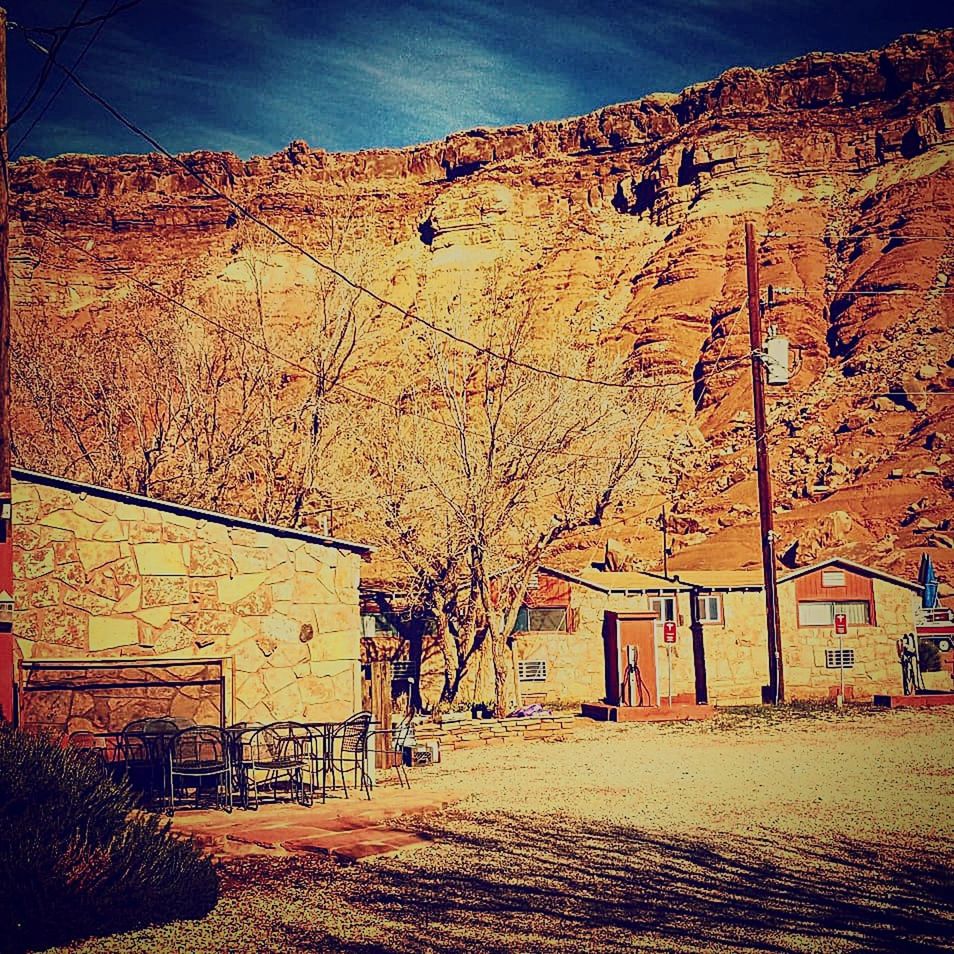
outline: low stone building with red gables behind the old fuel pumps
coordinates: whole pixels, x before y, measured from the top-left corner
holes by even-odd
[[[654,670],[651,694],[655,701],[668,697],[671,671],[674,701],[694,702],[689,602],[693,587],[698,593],[709,702],[761,702],[768,656],[760,570],[677,571],[667,579],[595,567],[579,573],[541,567],[515,634],[522,692],[544,693],[549,702],[602,699],[607,678],[606,614],[653,612],[658,617],[652,641],[655,658],[643,667],[647,673]],[[849,697],[870,699],[877,693],[902,691],[896,640],[915,629],[918,584],[833,559],[781,576],[778,594],[787,698],[830,696],[839,687],[842,661]],[[841,612],[848,617],[848,632],[839,643],[833,617]],[[677,632],[668,658],[664,620],[676,623]],[[391,635],[368,642],[378,647],[379,655],[404,654],[400,640]],[[441,685],[436,649],[432,641],[425,642],[419,677],[422,695],[432,702]],[[472,681],[464,681],[465,698],[477,691]],[[485,689],[482,694],[489,693]]]

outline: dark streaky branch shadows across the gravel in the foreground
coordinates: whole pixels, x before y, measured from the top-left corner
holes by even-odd
[[[333,871],[307,864],[289,949],[939,951],[951,852],[778,834],[705,841],[578,819],[451,813],[438,845]],[[275,885],[286,867],[275,871]],[[360,938],[360,940],[356,940]]]

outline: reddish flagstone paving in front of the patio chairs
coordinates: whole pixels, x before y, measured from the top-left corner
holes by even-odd
[[[220,857],[318,852],[347,864],[426,844],[426,836],[395,826],[403,816],[440,811],[461,798],[449,792],[376,789],[371,801],[334,799],[308,808],[273,804],[257,811],[237,808],[231,814],[183,810],[176,813],[172,829]]]

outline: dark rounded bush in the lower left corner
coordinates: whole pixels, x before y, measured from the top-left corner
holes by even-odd
[[[212,863],[89,753],[0,727],[0,951],[207,914]]]

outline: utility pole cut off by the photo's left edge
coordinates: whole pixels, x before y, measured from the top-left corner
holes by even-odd
[[[7,11],[0,7],[0,721],[13,713],[13,494],[10,477],[10,182]]]

